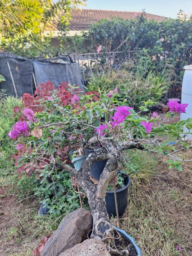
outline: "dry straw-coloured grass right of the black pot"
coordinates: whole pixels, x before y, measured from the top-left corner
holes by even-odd
[[[191,163],[180,172],[169,171],[166,159],[147,152],[137,153],[137,160],[143,168],[131,176],[122,229],[134,237],[143,256],[192,256]]]

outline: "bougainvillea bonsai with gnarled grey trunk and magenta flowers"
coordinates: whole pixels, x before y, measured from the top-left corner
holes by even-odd
[[[108,183],[116,175],[120,155],[126,149],[138,148],[166,155],[170,158],[169,168],[182,170],[180,163],[185,159],[180,152],[182,149],[191,148],[189,143],[177,140],[178,143],[173,147],[161,144],[157,135],[182,138],[183,125],[189,128],[190,133],[191,118],[171,125],[166,124],[175,113],[185,112],[187,104],[169,102],[170,111],[166,113],[163,122],[160,122],[157,113],[153,113],[151,118],[141,116],[141,113],[148,111],[148,107],[150,108],[154,102],[141,102],[143,105],[136,113],[131,106],[126,105],[126,99],[119,101],[117,89],[97,97],[91,93],[76,93],[73,94],[69,105],[62,104],[56,91],[49,97],[42,102],[42,111],[24,109],[23,114],[26,115],[27,122],[18,122],[8,134],[9,137],[17,138],[18,149],[22,145],[31,149],[30,154],[27,152],[21,155],[18,161],[27,164],[29,170],[37,168],[40,174],[40,163],[47,166],[49,173],[55,169],[70,172],[79,182],[89,201],[93,216],[91,238],[104,239],[111,255],[128,255],[126,250],[117,252],[113,239],[105,239],[113,237],[113,226],[109,221],[105,204]],[[83,161],[79,171],[59,154],[55,154],[58,148],[69,151],[70,145],[94,149]],[[89,177],[90,167],[96,161],[106,159],[108,161],[96,186]]]

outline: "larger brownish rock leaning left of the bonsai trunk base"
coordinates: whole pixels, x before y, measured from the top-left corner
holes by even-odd
[[[67,215],[49,238],[41,256],[59,256],[65,250],[81,243],[92,229],[92,215],[85,209],[77,209]]]

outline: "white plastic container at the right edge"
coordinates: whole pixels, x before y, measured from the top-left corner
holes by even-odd
[[[186,108],[186,113],[180,114],[180,120],[186,120],[192,117],[192,65],[185,66],[183,69],[185,73],[181,90],[181,103],[188,103],[189,105]],[[184,128],[183,132],[187,133],[189,130]],[[190,132],[192,132],[192,130]],[[187,134],[187,137],[189,140],[192,140],[192,134]]]

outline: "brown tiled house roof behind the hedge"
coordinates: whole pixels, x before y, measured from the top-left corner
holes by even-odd
[[[70,21],[69,29],[75,31],[87,30],[91,23],[96,23],[101,19],[111,19],[111,17],[121,17],[123,19],[130,20],[140,16],[142,12],[119,12],[119,11],[106,11],[106,10],[93,10],[93,9],[82,9],[81,12],[78,10],[72,10],[72,19]],[[166,17],[153,15],[146,13],[147,20],[165,20]]]

